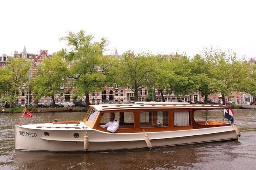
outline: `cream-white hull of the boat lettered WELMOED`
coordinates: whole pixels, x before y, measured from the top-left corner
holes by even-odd
[[[147,147],[144,133],[111,133],[98,131],[83,122],[72,125],[52,123],[15,126],[15,149],[47,151],[85,151],[85,127],[88,132],[88,151],[118,150]],[[48,132],[49,136],[45,136]],[[79,137],[75,138],[74,134]],[[147,132],[153,147],[237,140],[232,126],[180,131]]]

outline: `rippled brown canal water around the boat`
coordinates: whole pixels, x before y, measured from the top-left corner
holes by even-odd
[[[14,150],[14,125],[20,113],[0,113],[0,169],[256,169],[256,110],[234,110],[241,131],[238,141],[103,152],[46,152]],[[33,113],[22,124],[82,120],[85,113]],[[200,116],[200,114],[198,114]],[[207,119],[214,120],[209,115]],[[222,119],[222,116],[220,118]]]

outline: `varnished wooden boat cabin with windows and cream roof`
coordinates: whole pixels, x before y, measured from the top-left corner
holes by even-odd
[[[189,104],[174,102],[135,102],[135,104],[104,104],[90,105],[83,122],[90,128],[99,131],[107,131],[101,128],[109,122],[109,113],[115,113],[115,119],[119,122],[116,133],[154,131],[176,131],[229,124],[216,121],[196,121],[194,113],[197,110],[224,110],[225,105]],[[223,113],[223,112],[222,112]]]

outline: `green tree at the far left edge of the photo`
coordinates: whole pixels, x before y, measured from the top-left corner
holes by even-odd
[[[29,71],[31,68],[30,60],[18,56],[7,59],[7,64],[3,69],[0,69],[0,92],[2,100],[7,100],[11,106],[18,97],[19,90],[24,90],[23,87],[29,79]]]

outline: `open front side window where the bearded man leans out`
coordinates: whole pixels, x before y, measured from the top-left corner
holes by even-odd
[[[133,112],[114,112],[115,119],[119,122],[119,129],[122,128],[134,128],[134,113]],[[101,113],[103,114],[101,118],[101,125],[109,122],[109,113]]]

